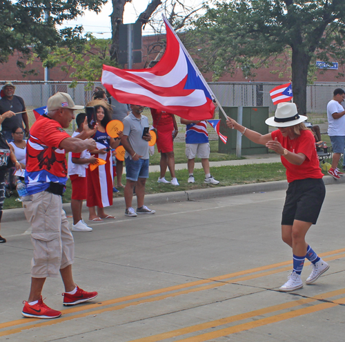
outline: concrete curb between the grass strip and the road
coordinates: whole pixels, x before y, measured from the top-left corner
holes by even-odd
[[[325,185],[345,183],[345,177],[335,180],[331,176],[324,176]],[[267,183],[253,183],[245,185],[230,185],[221,188],[198,189],[190,191],[164,192],[162,194],[148,194],[145,196],[146,203],[149,205],[157,205],[163,203],[199,201],[202,199],[213,199],[216,197],[236,196],[239,194],[250,194],[251,192],[270,192],[276,190],[286,190],[288,188],[287,181],[271,181]],[[116,208],[124,208],[124,198],[113,200]],[[125,208],[124,208],[125,209]],[[63,203],[63,210],[69,216],[72,214],[70,203]],[[88,212],[86,202],[83,202],[83,212]],[[3,210],[1,223],[26,220],[22,208]]]

